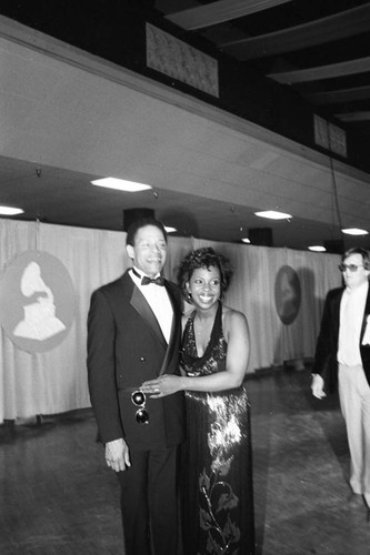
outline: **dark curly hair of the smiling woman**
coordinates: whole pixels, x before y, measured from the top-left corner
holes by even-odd
[[[187,283],[190,281],[193,271],[199,268],[209,270],[211,266],[219,269],[222,299],[230,285],[233,274],[233,269],[229,259],[226,259],[222,254],[216,253],[211,246],[203,246],[202,249],[190,251],[181,262],[178,271],[178,284],[188,302],[191,302],[191,299],[189,299]]]

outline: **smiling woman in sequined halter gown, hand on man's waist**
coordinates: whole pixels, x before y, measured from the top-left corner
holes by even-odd
[[[221,303],[232,270],[210,248],[182,261],[179,283],[193,304],[183,317],[182,376],[143,384],[152,396],[186,392],[181,453],[184,555],[253,555],[249,360],[246,316]]]

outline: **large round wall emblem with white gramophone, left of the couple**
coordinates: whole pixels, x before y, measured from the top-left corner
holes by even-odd
[[[74,310],[72,280],[56,256],[27,251],[7,266],[0,281],[0,321],[23,351],[38,353],[59,345]]]

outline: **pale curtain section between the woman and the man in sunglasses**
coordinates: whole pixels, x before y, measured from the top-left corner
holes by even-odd
[[[341,284],[339,255],[196,240],[194,248],[200,246],[212,246],[234,268],[224,303],[247,316],[249,372],[313,356],[324,297]],[[300,309],[290,325],[281,322],[274,297],[276,278],[284,265],[296,271],[301,286]]]

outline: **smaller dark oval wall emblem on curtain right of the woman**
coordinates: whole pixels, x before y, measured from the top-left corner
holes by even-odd
[[[274,282],[274,303],[281,322],[291,324],[301,305],[301,285],[297,272],[281,266]]]

